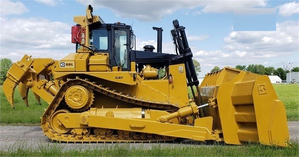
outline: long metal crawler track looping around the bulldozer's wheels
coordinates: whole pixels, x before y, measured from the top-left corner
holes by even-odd
[[[111,130],[111,129],[105,129],[104,134],[97,134],[94,129],[91,130],[91,128],[84,128],[86,129],[86,134],[83,133],[82,135],[76,135],[72,133],[68,133],[65,128],[60,129],[60,126],[56,126],[55,123],[52,123],[54,125],[51,125],[52,117],[55,119],[56,113],[65,113],[67,110],[58,110],[57,108],[59,106],[62,106],[61,103],[63,103],[63,97],[66,94],[66,91],[70,87],[74,87],[76,85],[80,85],[82,87],[86,87],[86,89],[90,89],[91,91],[98,92],[100,94],[104,94],[106,96],[110,96],[114,99],[118,99],[127,103],[136,104],[141,107],[147,107],[147,108],[154,108],[154,109],[163,109],[163,110],[173,110],[176,111],[179,108],[175,105],[170,104],[169,102],[157,102],[157,101],[151,101],[151,100],[144,100],[142,98],[137,98],[136,96],[131,96],[130,94],[123,94],[118,93],[115,90],[112,90],[111,88],[107,88],[103,85],[97,84],[96,82],[91,82],[89,79],[81,79],[79,77],[76,77],[76,79],[68,79],[66,83],[64,83],[58,93],[56,94],[54,100],[49,105],[47,110],[45,111],[44,115],[42,116],[42,130],[53,141],[63,141],[63,142],[77,142],[77,143],[83,143],[83,142],[114,142],[114,141],[120,141],[120,142],[153,142],[153,141],[173,141],[174,137],[168,137],[168,136],[160,136],[160,135],[153,135],[153,134],[145,134],[145,133],[139,133],[139,132],[126,132],[123,130]],[[57,111],[57,112],[56,112]],[[61,111],[61,112],[60,112]],[[56,120],[53,120],[53,122]],[[95,128],[95,129],[103,129],[103,128]],[[62,130],[62,131],[61,131]],[[92,134],[94,132],[94,134]],[[113,133],[114,132],[114,133]],[[115,132],[117,132],[115,134]]]

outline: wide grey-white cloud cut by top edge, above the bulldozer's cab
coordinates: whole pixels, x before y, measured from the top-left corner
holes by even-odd
[[[94,8],[110,8],[116,16],[133,17],[141,21],[159,20],[179,9],[193,8],[196,1],[168,0],[77,0]]]

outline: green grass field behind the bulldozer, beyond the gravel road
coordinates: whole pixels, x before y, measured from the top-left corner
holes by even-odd
[[[285,105],[288,121],[299,121],[299,83],[274,84],[273,86],[279,99]],[[41,117],[48,105],[43,100],[41,101],[41,105],[39,105],[30,90],[28,102],[29,107],[26,107],[17,89],[15,91],[16,108],[13,109],[4,96],[2,86],[0,86],[0,124],[39,125],[39,117]]]

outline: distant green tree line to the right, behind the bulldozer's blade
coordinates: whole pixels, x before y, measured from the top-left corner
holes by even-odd
[[[262,64],[249,64],[249,65],[236,65],[235,66],[236,69],[240,69],[240,70],[244,70],[244,71],[248,71],[248,72],[252,72],[252,73],[256,73],[256,74],[260,74],[260,75],[277,75],[279,76],[282,80],[286,79],[286,73],[290,72],[290,67],[288,66],[283,66],[283,68],[279,67],[277,69],[275,69],[273,66],[268,66],[265,67]],[[218,66],[215,66],[211,72],[215,72],[220,70],[220,68]],[[291,69],[291,72],[299,72],[299,67],[293,67]]]

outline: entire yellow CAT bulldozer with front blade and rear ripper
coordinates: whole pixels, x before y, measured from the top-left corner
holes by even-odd
[[[153,27],[157,52],[135,50],[131,26],[92,13],[89,5],[86,16],[74,17],[75,53],[60,61],[25,55],[3,83],[13,108],[17,85],[27,106],[29,89],[48,103],[41,128],[52,141],[288,146],[285,108],[267,76],[224,67],[200,84],[178,20],[171,30],[176,54],[169,54],[162,53],[162,28]]]

